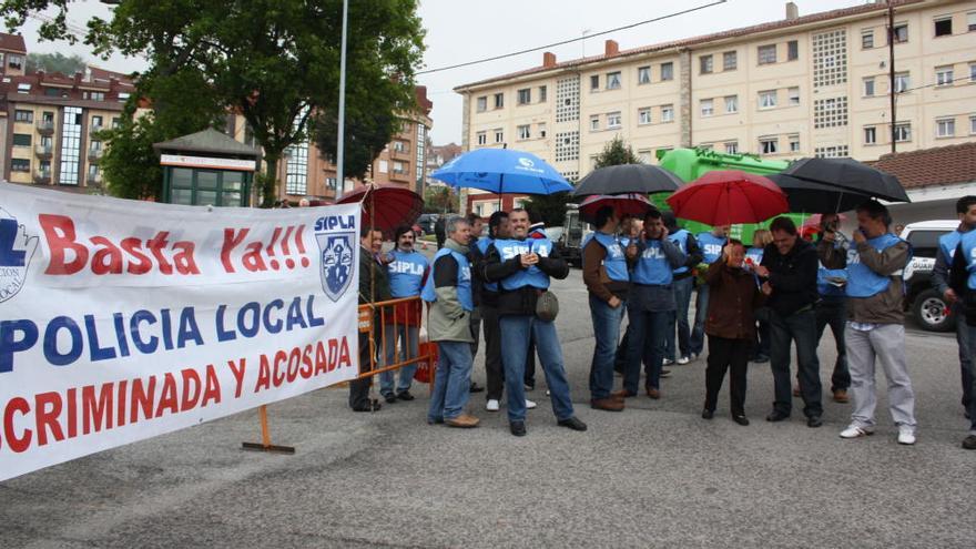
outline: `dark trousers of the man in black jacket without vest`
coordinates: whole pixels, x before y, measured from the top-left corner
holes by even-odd
[[[816,313],[812,309],[781,316],[770,311],[770,366],[773,369],[775,400],[773,409],[790,415],[793,389],[790,386],[790,347],[796,342],[800,393],[806,417],[823,415],[821,405],[820,362],[816,358]]]

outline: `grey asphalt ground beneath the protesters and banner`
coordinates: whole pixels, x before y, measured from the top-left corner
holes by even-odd
[[[767,365],[752,365],[749,427],[699,417],[704,364],[674,368],[659,401],[589,409],[592,352],[580,272],[557,285],[578,415],[557,427],[545,386],[525,438],[502,414],[482,427],[425,424],[424,395],[353,414],[344,389],[271,407],[274,441],[245,453],[255,413],[133,444],[0,484],[0,547],[973,547],[976,453],[959,448],[955,340],[912,331],[918,444],[902,447],[885,408],[878,434],[841,440],[848,406],[810,429],[762,420]],[[833,364],[833,339],[821,346]],[[482,362],[476,378],[484,383]],[[826,372],[826,368],[824,368]],[[828,379],[828,374],[822,376]],[[884,405],[884,401],[882,401]]]

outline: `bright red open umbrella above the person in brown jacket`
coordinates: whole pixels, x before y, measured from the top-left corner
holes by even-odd
[[[789,211],[786,195],[762,175],[709,172],[668,199],[674,216],[709,225],[759,223]]]

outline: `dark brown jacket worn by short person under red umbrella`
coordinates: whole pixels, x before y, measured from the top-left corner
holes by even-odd
[[[755,284],[755,277],[743,268],[725,265],[720,257],[705,274],[709,285],[709,316],[705,333],[728,339],[749,339],[755,336],[754,312],[765,296]]]

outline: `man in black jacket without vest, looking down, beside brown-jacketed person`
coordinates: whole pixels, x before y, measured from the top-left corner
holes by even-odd
[[[770,307],[770,364],[773,368],[775,401],[767,421],[790,417],[793,394],[790,387],[790,347],[796,342],[800,393],[809,427],[823,425],[820,362],[816,358],[816,312],[819,298],[816,248],[800,238],[789,217],[776,217],[770,225],[773,243],[763,252],[762,265],[755,267],[765,278],[763,293]]]

